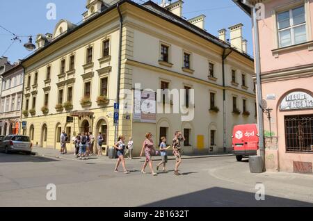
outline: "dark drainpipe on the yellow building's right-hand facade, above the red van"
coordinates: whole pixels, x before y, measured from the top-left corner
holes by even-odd
[[[227,51],[227,49],[229,51]],[[225,90],[225,60],[226,58],[232,54],[232,47],[227,47],[227,48],[224,48],[223,49],[223,55],[222,55],[222,74],[223,74],[223,150],[224,150],[224,153],[226,152],[226,128],[227,128],[227,125],[226,125],[226,120],[227,120],[227,117],[226,117],[226,90]]]

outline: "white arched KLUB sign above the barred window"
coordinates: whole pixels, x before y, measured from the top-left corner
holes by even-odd
[[[280,104],[281,111],[313,108],[313,97],[305,92],[291,92]]]

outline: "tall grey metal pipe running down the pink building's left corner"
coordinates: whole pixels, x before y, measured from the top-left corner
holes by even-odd
[[[259,55],[259,26],[257,24],[257,10],[255,7],[252,8],[253,17],[253,29],[255,36],[255,74],[257,77],[257,101],[262,101],[262,86],[261,86],[261,65]],[[260,105],[257,106],[257,121],[259,124],[259,154],[265,162],[265,147],[264,147],[264,121],[263,121],[263,110]],[[264,165],[264,164],[263,164]]]

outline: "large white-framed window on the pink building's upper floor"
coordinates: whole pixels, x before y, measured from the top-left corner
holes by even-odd
[[[280,47],[307,41],[304,6],[278,13],[278,38]]]

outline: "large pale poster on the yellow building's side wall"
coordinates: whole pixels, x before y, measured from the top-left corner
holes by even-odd
[[[135,90],[134,122],[155,124],[157,122],[156,107],[155,92]]]

